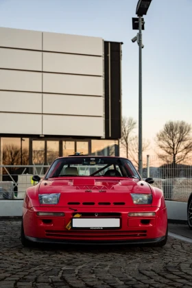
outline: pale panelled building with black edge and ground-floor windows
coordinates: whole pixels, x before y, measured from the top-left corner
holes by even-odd
[[[0,164],[118,156],[121,44],[1,27]]]

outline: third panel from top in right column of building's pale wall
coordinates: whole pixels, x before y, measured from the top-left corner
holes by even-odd
[[[72,95],[103,95],[103,78],[43,73],[43,92]]]

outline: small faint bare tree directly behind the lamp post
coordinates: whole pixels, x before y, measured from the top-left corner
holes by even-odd
[[[149,149],[149,140],[143,139],[142,141],[142,152],[147,151],[147,149]],[[139,167],[139,138],[138,136],[135,136],[134,139],[132,140],[131,144],[130,144],[130,156],[132,161],[134,161],[134,163],[136,163],[136,165]],[[143,165],[145,162],[143,162]]]

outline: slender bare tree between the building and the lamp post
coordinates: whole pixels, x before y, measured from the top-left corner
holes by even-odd
[[[132,137],[132,132],[135,128],[136,121],[132,117],[123,117],[121,145],[125,149],[127,158],[129,156],[130,143],[134,139],[134,137]]]

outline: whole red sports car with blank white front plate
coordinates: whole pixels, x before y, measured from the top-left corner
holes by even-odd
[[[163,191],[126,158],[57,158],[43,180],[33,179],[23,200],[23,245],[167,242]]]

